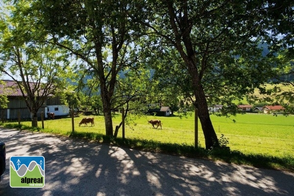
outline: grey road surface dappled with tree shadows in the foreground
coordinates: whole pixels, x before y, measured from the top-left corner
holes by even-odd
[[[294,173],[0,129],[0,196],[293,196]],[[45,187],[11,188],[10,156],[44,156]]]

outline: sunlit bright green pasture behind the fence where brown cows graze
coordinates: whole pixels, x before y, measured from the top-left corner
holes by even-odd
[[[74,118],[74,130],[80,133],[101,133],[105,134],[103,116],[94,116],[95,126],[78,126],[84,116]],[[114,128],[121,122],[121,115],[116,114],[113,118]],[[163,123],[163,129],[154,129],[147,120],[153,119],[147,116],[136,119],[129,125],[125,125],[125,138],[153,140],[162,143],[176,143],[194,146],[194,115],[187,118],[174,117],[155,117]],[[276,157],[294,157],[294,116],[272,116],[267,114],[244,114],[232,117],[236,120],[224,117],[211,116],[215,131],[218,137],[221,134],[228,140],[232,150],[239,150],[245,154],[266,154]],[[30,122],[22,124],[30,126]],[[72,131],[71,118],[47,120],[44,122],[45,128],[54,133],[70,135]],[[41,127],[41,122],[38,122]],[[204,137],[200,123],[199,146],[205,147]],[[49,131],[50,132],[50,131]],[[118,137],[122,137],[122,128]]]

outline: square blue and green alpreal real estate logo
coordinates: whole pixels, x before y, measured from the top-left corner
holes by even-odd
[[[10,157],[10,187],[41,188],[44,186],[44,156]]]

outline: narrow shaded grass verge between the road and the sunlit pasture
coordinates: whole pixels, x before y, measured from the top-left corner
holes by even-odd
[[[118,147],[127,147],[132,149],[151,151],[157,153],[171,154],[175,156],[185,156],[190,158],[201,158],[213,161],[222,161],[226,163],[234,163],[238,165],[250,165],[257,168],[273,169],[273,170],[285,170],[289,172],[294,172],[294,157],[276,157],[265,154],[244,154],[238,150],[231,150],[229,147],[215,148],[211,150],[206,150],[203,147],[195,148],[194,146],[187,144],[172,144],[172,143],[162,143],[153,140],[144,139],[123,139],[121,137],[112,138],[107,137],[101,133],[95,132],[82,132],[82,131],[67,131],[60,132],[59,130],[53,129],[41,129],[33,128],[27,125],[19,125],[18,123],[5,123],[0,126],[6,128],[16,128],[21,130],[29,131],[40,131],[44,133],[51,133],[56,135],[63,135],[70,138],[82,138],[86,140],[91,140],[98,142],[100,144],[115,145]]]

